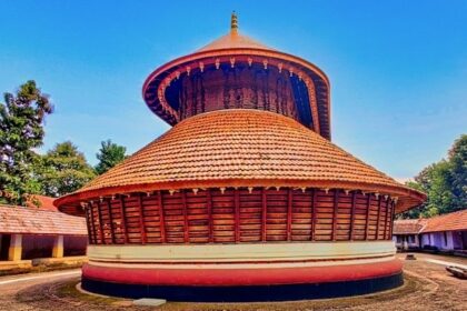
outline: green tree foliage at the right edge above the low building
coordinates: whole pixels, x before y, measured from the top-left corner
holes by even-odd
[[[420,190],[428,200],[403,218],[433,217],[467,208],[467,134],[454,142],[447,159],[425,168],[407,185]]]

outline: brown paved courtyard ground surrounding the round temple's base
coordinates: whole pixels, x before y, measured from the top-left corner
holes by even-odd
[[[404,255],[399,255],[404,259]],[[406,284],[372,295],[278,303],[173,303],[157,310],[467,310],[467,280],[445,271],[445,262],[467,265],[467,259],[416,254],[405,261]],[[90,297],[74,285],[80,271],[69,270],[0,278],[0,310],[153,310],[129,300]]]

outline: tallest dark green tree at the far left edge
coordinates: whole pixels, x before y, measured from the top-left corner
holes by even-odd
[[[0,102],[0,191],[8,193],[3,198],[9,203],[22,204],[28,193],[40,190],[32,172],[38,161],[33,149],[42,146],[43,121],[52,110],[49,97],[32,80],[16,94],[4,93]]]

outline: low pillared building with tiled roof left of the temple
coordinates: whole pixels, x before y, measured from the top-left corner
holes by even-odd
[[[0,204],[0,261],[86,254],[86,221],[59,212],[52,202],[33,195],[27,207]]]

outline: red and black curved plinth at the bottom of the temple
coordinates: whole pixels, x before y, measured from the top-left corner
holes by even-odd
[[[167,264],[168,265],[168,264]],[[211,264],[156,268],[137,264],[83,267],[83,289],[127,298],[163,298],[172,301],[278,301],[365,294],[403,284],[401,262],[290,267],[290,264]],[[245,264],[242,264],[245,265]],[[257,267],[256,267],[257,265]],[[259,268],[260,267],[260,268]]]

